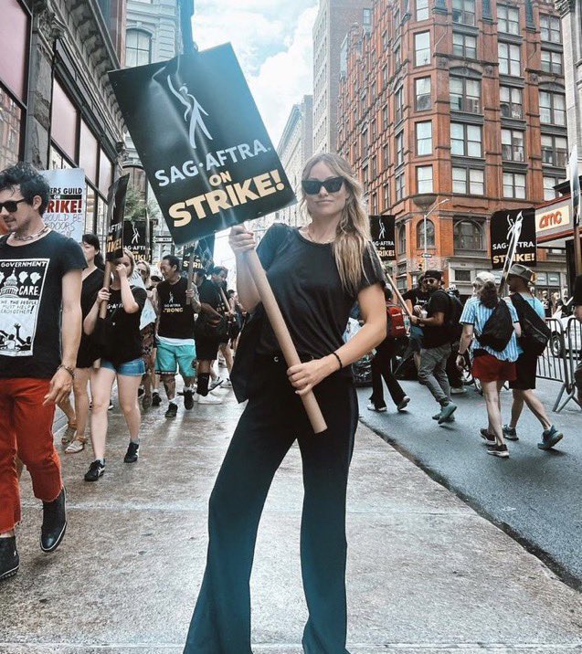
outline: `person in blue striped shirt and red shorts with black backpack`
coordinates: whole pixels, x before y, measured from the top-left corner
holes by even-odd
[[[503,440],[500,392],[503,384],[515,379],[515,362],[519,355],[516,336],[521,333],[513,305],[499,298],[495,278],[481,272],[475,295],[460,316],[463,326],[457,365],[465,365],[465,353],[472,347],[471,374],[479,379],[487,407],[489,425],[481,429],[487,454],[507,459],[509,450]]]

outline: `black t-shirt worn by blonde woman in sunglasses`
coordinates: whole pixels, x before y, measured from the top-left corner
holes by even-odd
[[[279,230],[284,230],[284,236]],[[341,347],[357,293],[344,291],[332,245],[312,243],[298,229],[275,224],[260,241],[257,252],[297,352],[321,358]],[[363,263],[365,277],[359,290],[384,281],[374,250],[365,252]],[[263,323],[257,352],[280,352],[268,319]]]

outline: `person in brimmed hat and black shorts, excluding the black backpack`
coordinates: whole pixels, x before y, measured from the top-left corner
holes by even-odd
[[[545,321],[545,311],[542,302],[530,292],[530,284],[533,283],[533,280],[534,273],[532,270],[526,268],[521,263],[514,263],[509,269],[507,283],[511,291],[510,300],[522,324],[522,332],[524,331],[524,317],[527,311],[527,305],[531,307],[541,321]],[[509,383],[509,387],[513,390],[512,417],[509,425],[503,426],[503,436],[507,440],[519,439],[516,427],[524,410],[525,403],[540,421],[542,427],[544,427],[542,440],[538,443],[537,447],[540,449],[553,448],[558,441],[564,438],[564,435],[552,425],[544,405],[534,393],[538,356],[528,347],[528,341],[525,336],[518,339],[517,348],[519,351],[519,358],[515,365],[517,378]]]

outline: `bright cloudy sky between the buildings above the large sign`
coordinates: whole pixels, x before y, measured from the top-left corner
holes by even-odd
[[[230,41],[277,146],[291,107],[312,93],[318,0],[196,0],[198,47]]]

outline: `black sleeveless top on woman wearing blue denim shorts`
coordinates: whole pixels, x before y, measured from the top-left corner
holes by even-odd
[[[139,304],[140,309],[135,313],[126,313],[123,311],[122,290],[111,289],[110,292],[106,319],[110,329],[107,343],[101,347],[101,357],[115,365],[125,364],[142,356],[140,318],[147,293],[139,286],[132,286],[133,299]]]

